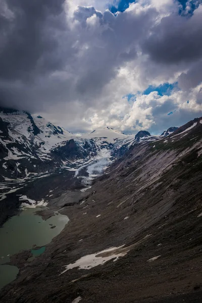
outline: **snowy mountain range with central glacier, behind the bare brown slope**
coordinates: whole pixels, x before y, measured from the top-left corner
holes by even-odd
[[[5,216],[20,205],[19,196],[48,203],[64,188],[89,188],[92,179],[134,148],[187,146],[200,138],[201,119],[194,119],[168,135],[141,130],[135,136],[106,127],[76,137],[41,116],[24,111],[0,110],[0,201]],[[174,130],[174,132],[172,132]],[[186,138],[190,137],[189,140]],[[52,192],[49,194],[49,192]],[[29,201],[29,200],[28,200]],[[11,207],[13,205],[13,207]]]

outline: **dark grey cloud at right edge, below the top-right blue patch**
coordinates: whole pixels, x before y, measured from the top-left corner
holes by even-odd
[[[176,64],[202,57],[201,8],[193,16],[171,14],[151,30],[142,43],[143,52],[156,62]]]

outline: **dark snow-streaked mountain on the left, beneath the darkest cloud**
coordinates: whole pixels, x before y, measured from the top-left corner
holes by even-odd
[[[92,140],[76,138],[41,116],[24,111],[1,109],[0,131],[0,172],[5,177],[53,172],[64,161],[96,155]]]

